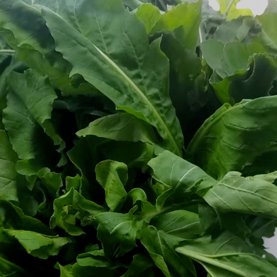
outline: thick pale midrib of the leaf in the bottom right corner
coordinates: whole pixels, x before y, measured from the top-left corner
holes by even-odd
[[[225,269],[227,271],[230,271],[230,272],[233,272],[235,274],[238,274],[239,276],[242,276],[242,277],[253,277],[247,273],[244,273],[244,272],[241,272],[240,270],[238,270],[237,268],[234,268],[234,267],[231,267],[229,265],[224,265],[222,264],[221,262],[218,262],[216,260],[214,260],[213,258],[209,258],[207,256],[203,256],[202,254],[200,253],[197,253],[197,252],[194,252],[194,251],[190,251],[190,250],[187,250],[187,249],[184,249],[184,248],[176,248],[175,249],[178,253],[181,253],[183,255],[186,255],[194,260],[199,260],[199,261],[202,261],[202,262],[206,262],[210,265],[214,265],[216,267],[219,267],[219,268],[222,268],[222,269]],[[240,254],[245,254],[245,253],[240,253]],[[238,255],[238,253],[236,254]]]

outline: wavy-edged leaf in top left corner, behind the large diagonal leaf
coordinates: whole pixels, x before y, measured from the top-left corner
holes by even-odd
[[[70,84],[70,63],[55,51],[54,40],[41,16],[40,5],[57,9],[57,3],[41,0],[25,2],[12,0],[0,3],[0,32],[7,43],[15,49],[17,59],[43,76],[47,75],[51,84],[64,94],[85,93],[86,89],[91,90],[90,86],[84,84],[78,89]],[[26,17],[28,21],[25,20]]]

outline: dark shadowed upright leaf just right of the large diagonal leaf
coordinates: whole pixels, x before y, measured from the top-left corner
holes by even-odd
[[[203,109],[206,99],[202,88],[196,85],[197,78],[202,77],[201,61],[195,49],[187,49],[172,33],[162,35],[161,49],[169,59],[169,95],[185,135],[186,145],[197,129],[197,117],[200,115],[205,118],[199,110]]]

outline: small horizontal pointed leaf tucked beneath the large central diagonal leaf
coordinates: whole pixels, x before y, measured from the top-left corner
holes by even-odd
[[[150,144],[158,142],[152,126],[128,113],[117,113],[98,118],[86,128],[79,130],[76,135],[79,137],[95,135],[117,141],[141,141]]]

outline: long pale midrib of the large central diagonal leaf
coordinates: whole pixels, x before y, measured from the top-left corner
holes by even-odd
[[[158,121],[160,122],[160,124],[163,126],[164,130],[166,131],[166,133],[168,134],[168,137],[170,139],[170,141],[173,142],[174,148],[176,150],[176,153],[178,153],[179,156],[182,156],[181,151],[179,150],[177,143],[175,141],[175,139],[173,138],[173,135],[171,134],[171,132],[169,131],[168,127],[166,126],[165,122],[162,120],[161,116],[159,115],[158,111],[156,110],[156,108],[153,106],[153,104],[148,100],[148,98],[143,94],[143,92],[135,85],[135,83],[120,69],[120,67],[118,67],[118,65],[111,60],[105,53],[103,53],[97,46],[95,46],[93,44],[93,46],[95,47],[95,49],[101,54],[101,56],[107,60],[114,68],[115,70],[124,78],[125,81],[128,82],[128,84],[133,88],[133,90],[136,92],[136,94],[138,94],[143,100],[144,102],[147,104],[147,106],[150,107],[150,109],[153,111],[154,115],[156,115],[156,118],[158,119]]]

